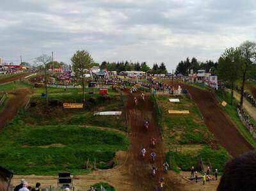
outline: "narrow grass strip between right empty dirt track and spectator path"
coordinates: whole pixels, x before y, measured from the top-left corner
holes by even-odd
[[[227,112],[228,116],[232,119],[232,121],[236,124],[239,132],[246,138],[250,144],[252,144],[253,147],[256,147],[256,140],[253,138],[252,134],[247,130],[247,128],[243,125],[242,121],[240,120],[239,116],[237,115],[237,107],[236,104],[231,105],[231,100],[230,100],[230,93],[223,89],[219,89],[216,91],[216,95],[220,100],[224,100],[228,104],[226,107],[224,107],[225,112]],[[253,123],[253,126],[256,126],[255,121],[251,118],[251,121]]]

